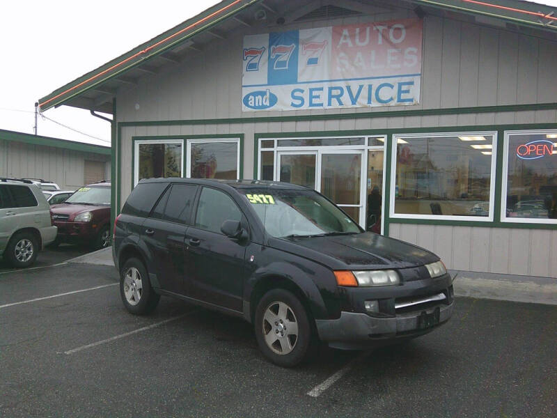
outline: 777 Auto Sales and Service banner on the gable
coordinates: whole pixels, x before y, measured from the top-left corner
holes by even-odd
[[[417,104],[422,31],[409,19],[245,36],[242,110]]]

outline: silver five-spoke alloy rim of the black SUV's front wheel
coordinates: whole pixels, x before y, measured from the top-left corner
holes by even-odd
[[[298,321],[292,308],[284,302],[272,302],[263,315],[265,343],[276,354],[287,355],[298,341]]]

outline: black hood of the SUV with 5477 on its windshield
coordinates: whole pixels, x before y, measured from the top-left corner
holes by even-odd
[[[426,249],[372,232],[269,240],[277,249],[298,254],[333,270],[411,268],[439,257]]]

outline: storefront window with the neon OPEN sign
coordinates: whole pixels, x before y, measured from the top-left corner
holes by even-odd
[[[501,218],[557,222],[557,131],[509,132],[505,155]]]

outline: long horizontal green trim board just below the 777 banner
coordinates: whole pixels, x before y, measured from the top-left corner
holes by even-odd
[[[223,119],[185,119],[169,121],[134,121],[122,122],[123,126],[172,126],[172,125],[218,125],[237,123],[269,123],[269,122],[300,122],[300,121],[340,121],[344,119],[402,118],[411,116],[442,116],[476,113],[500,113],[508,111],[557,110],[557,103],[538,104],[505,104],[501,106],[448,107],[446,109],[414,109],[365,111],[346,114],[320,114],[299,116],[251,116],[245,118]]]

